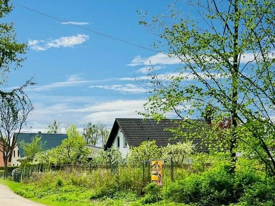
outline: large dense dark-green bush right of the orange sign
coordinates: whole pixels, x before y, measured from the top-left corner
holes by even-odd
[[[192,174],[168,186],[166,195],[172,201],[200,205],[228,205],[236,201],[232,178],[226,167]]]

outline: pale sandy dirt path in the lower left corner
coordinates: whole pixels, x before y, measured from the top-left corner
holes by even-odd
[[[43,206],[25,199],[15,193],[13,193],[7,186],[0,184],[0,205],[7,206]]]

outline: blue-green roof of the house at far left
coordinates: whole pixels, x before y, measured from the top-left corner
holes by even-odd
[[[22,141],[24,141],[25,143],[31,143],[36,135],[41,136],[41,142],[44,143],[43,149],[45,150],[52,149],[61,145],[62,140],[68,137],[67,134],[19,133],[17,136],[17,145],[21,158],[24,157],[24,151],[20,143]]]

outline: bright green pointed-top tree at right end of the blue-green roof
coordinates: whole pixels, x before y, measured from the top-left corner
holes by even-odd
[[[71,125],[67,129],[68,138],[62,140],[60,146],[52,149],[54,163],[76,164],[87,162],[90,150],[86,147],[84,138],[78,133],[77,128]]]

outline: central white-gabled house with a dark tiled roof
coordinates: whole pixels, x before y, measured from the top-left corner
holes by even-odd
[[[116,118],[104,150],[113,146],[119,148],[123,157],[126,157],[130,151],[130,147],[139,146],[144,141],[155,140],[156,145],[160,147],[167,146],[168,143],[176,144],[182,141],[182,138],[175,138],[174,134],[168,131],[169,129],[179,128],[179,123],[173,120],[176,119],[164,119],[158,122],[154,119]],[[180,121],[179,119],[177,120]],[[197,121],[202,126],[206,126],[205,128],[208,127],[204,120],[190,121]],[[191,131],[182,128],[181,132],[196,134],[196,137],[191,139],[195,145],[195,150],[198,152],[208,152],[207,147],[203,144],[204,137],[200,135],[200,133],[203,134],[202,127],[194,128]]]

